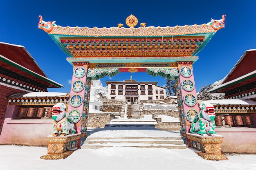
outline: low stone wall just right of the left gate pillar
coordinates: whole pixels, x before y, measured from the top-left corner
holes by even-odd
[[[88,113],[88,127],[103,128],[111,119],[115,119],[112,113]]]

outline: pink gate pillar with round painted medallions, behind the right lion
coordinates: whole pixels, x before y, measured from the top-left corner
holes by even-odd
[[[177,62],[180,77],[176,79],[178,107],[180,110],[180,119],[183,123],[181,129],[182,137],[189,133],[191,122],[199,115],[195,81],[193,75],[193,62]],[[188,139],[187,139],[188,140]],[[187,141],[187,146],[188,146]],[[189,146],[188,146],[189,147]]]

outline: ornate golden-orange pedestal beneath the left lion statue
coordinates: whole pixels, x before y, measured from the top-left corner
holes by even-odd
[[[67,136],[48,136],[47,155],[43,155],[40,159],[65,159],[77,150],[81,134],[67,135]]]

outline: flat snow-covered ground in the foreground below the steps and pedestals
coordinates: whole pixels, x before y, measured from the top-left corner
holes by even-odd
[[[192,149],[100,148],[79,149],[66,159],[43,160],[45,147],[0,146],[1,170],[256,170],[256,155],[227,155],[207,161]]]

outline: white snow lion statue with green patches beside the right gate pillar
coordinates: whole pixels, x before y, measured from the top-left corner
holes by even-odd
[[[214,106],[203,101],[199,106],[200,115],[191,123],[189,132],[198,133],[202,136],[216,136]]]

